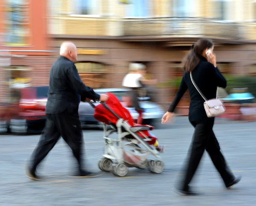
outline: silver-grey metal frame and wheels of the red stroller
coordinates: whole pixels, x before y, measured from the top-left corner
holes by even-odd
[[[89,102],[92,107],[95,105]],[[164,170],[164,163],[161,161],[159,152],[152,148],[151,145],[147,143],[151,139],[145,136],[143,132],[140,131],[139,127],[131,127],[124,119],[120,118],[116,113],[108,107],[107,104],[102,102],[103,106],[108,109],[116,118],[118,118],[116,125],[110,124],[111,129],[107,128],[107,125],[103,123],[104,139],[105,139],[105,151],[102,155],[103,158],[99,160],[99,169],[106,172],[112,172],[114,175],[123,177],[128,173],[128,167],[136,167],[140,169],[148,169],[152,173],[160,174]],[[124,128],[125,131],[122,131]],[[143,134],[143,139],[136,132]],[[117,133],[117,139],[110,138],[111,134]],[[125,136],[132,135],[134,139],[126,138]],[[141,148],[138,144],[143,145],[145,148]],[[134,148],[132,153],[140,157],[139,164],[131,164],[131,162],[125,161],[123,154],[125,146]],[[129,151],[131,152],[131,151]],[[131,153],[130,153],[131,154]],[[157,160],[148,160],[148,155],[153,155]]]

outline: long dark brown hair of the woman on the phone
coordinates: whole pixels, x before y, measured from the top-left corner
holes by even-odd
[[[192,45],[189,54],[183,60],[183,70],[187,73],[192,72],[199,64],[202,52],[207,48],[212,48],[213,43],[209,39],[200,39]]]

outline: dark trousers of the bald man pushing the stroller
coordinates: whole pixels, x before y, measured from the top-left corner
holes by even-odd
[[[79,169],[82,169],[84,140],[78,108],[67,109],[62,113],[47,114],[46,116],[44,131],[32,155],[31,169],[36,170],[37,165],[47,156],[61,136],[72,149],[73,155],[79,163]]]

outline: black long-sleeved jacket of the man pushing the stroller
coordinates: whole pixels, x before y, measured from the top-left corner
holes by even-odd
[[[67,109],[78,111],[86,98],[99,101],[100,96],[81,81],[75,64],[60,56],[50,71],[46,113],[61,113]]]

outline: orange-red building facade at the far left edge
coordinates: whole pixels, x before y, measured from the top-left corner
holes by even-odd
[[[7,103],[14,84],[48,84],[54,58],[49,49],[47,0],[2,0],[0,6],[0,102]]]

